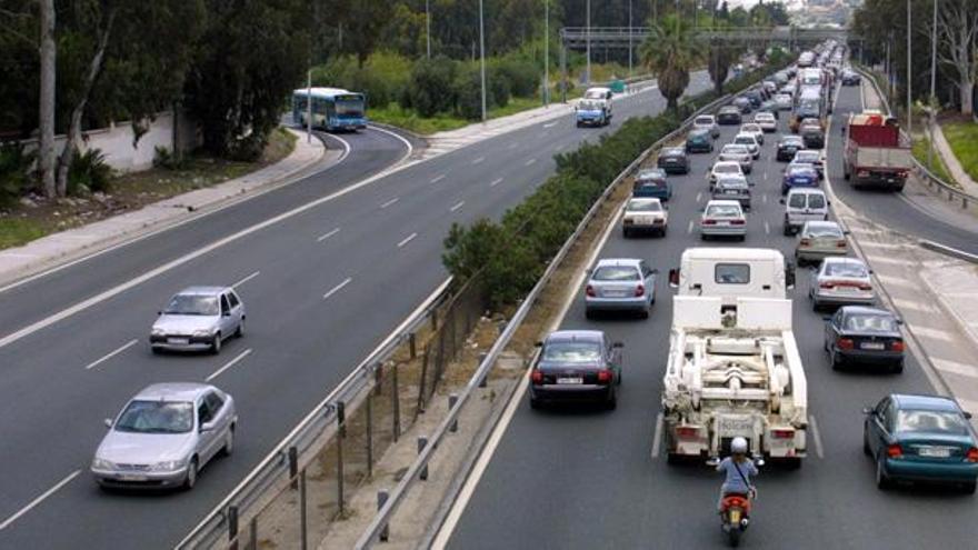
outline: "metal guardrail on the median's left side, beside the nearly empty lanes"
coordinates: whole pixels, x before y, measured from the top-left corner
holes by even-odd
[[[279,444],[221,501],[198,526],[177,544],[178,550],[211,548],[233,539],[237,524],[253,516],[252,509],[277,483],[287,483],[295,461],[313,450],[318,440],[337,426],[337,403],[349,402],[353,396],[373,383],[375,370],[383,364],[431,313],[450,297],[451,278],[436,289],[416,312],[395,329],[381,344],[358,364],[347,378],[286,436]],[[290,458],[290,449],[295,454]]]

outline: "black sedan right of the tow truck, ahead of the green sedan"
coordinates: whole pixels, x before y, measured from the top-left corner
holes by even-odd
[[[826,319],[825,350],[832,369],[844,366],[882,367],[904,371],[902,322],[891,312],[865,306],[844,306]]]

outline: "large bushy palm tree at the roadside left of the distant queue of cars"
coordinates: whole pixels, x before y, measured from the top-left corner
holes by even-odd
[[[679,107],[679,98],[689,86],[689,71],[700,61],[692,29],[675,14],[650,24],[651,30],[638,53],[642,63],[659,79],[659,93],[669,109]]]

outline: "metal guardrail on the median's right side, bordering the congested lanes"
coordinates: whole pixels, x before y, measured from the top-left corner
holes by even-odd
[[[357,550],[363,550],[363,549],[369,548],[373,543],[373,541],[376,541],[378,539],[378,537],[381,536],[382,532],[387,531],[388,523],[390,522],[390,520],[393,517],[395,512],[397,511],[398,507],[400,507],[402,504],[405,497],[407,496],[411,486],[413,486],[413,483],[419,480],[421,472],[427,471],[428,463],[431,460],[436,449],[438,449],[441,440],[445,438],[445,436],[447,433],[449,433],[451,427],[455,426],[456,422],[458,421],[458,417],[461,413],[462,408],[466,406],[466,403],[468,402],[468,400],[472,396],[473,391],[480,386],[480,382],[489,376],[489,371],[492,369],[492,366],[496,363],[497,359],[499,358],[499,354],[509,344],[509,341],[516,334],[516,331],[519,329],[523,319],[526,319],[530,309],[532,309],[533,303],[539,298],[543,288],[550,281],[550,278],[553,277],[553,273],[556,273],[561,261],[569,253],[570,248],[576,243],[577,239],[587,229],[587,227],[590,224],[590,222],[593,220],[595,216],[597,214],[598,210],[611,197],[611,193],[616,190],[616,188],[621,183],[621,181],[623,181],[628,176],[630,176],[649,157],[649,154],[651,154],[655,150],[659,149],[660,147],[668,143],[672,139],[675,139],[681,132],[685,132],[686,129],[692,123],[692,120],[698,114],[700,114],[702,112],[707,112],[711,109],[716,109],[720,104],[723,104],[725,102],[729,102],[730,99],[731,99],[730,94],[723,96],[720,99],[717,99],[717,100],[708,103],[707,106],[703,106],[702,108],[698,109],[696,112],[690,114],[690,117],[687,118],[679,128],[677,128],[672,132],[669,132],[669,134],[659,139],[655,143],[652,143],[651,147],[646,149],[621,173],[619,173],[618,177],[615,178],[615,180],[605,189],[605,191],[601,193],[601,197],[599,197],[598,200],[595,201],[595,203],[591,206],[590,210],[588,210],[588,212],[585,214],[583,219],[580,221],[580,223],[578,223],[573,233],[571,233],[571,236],[567,239],[567,241],[565,241],[563,246],[560,248],[560,250],[557,252],[557,254],[553,257],[553,259],[550,260],[549,264],[547,266],[546,271],[540,277],[540,280],[537,281],[537,284],[532,288],[532,290],[530,290],[529,294],[527,294],[527,297],[523,299],[522,304],[516,311],[516,313],[513,314],[513,317],[509,321],[509,323],[506,326],[506,329],[502,331],[502,333],[499,336],[499,338],[496,340],[496,342],[493,342],[492,347],[489,349],[489,352],[486,354],[486,357],[479,363],[478,369],[472,374],[472,377],[469,379],[469,381],[466,384],[462,392],[458,396],[457,401],[449,409],[448,414],[445,417],[445,419],[441,421],[441,423],[438,424],[438,428],[436,429],[435,433],[428,440],[425,448],[419,452],[415,462],[407,470],[407,472],[405,472],[405,474],[401,477],[398,484],[390,492],[389,497],[387,498],[387,501],[383,503],[383,506],[380,508],[380,510],[373,517],[373,520],[367,527],[363,534],[357,541],[357,544],[355,547]]]

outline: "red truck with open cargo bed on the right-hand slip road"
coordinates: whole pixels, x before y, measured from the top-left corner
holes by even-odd
[[[914,154],[896,119],[874,111],[850,114],[846,134],[842,173],[852,187],[904,189]]]

